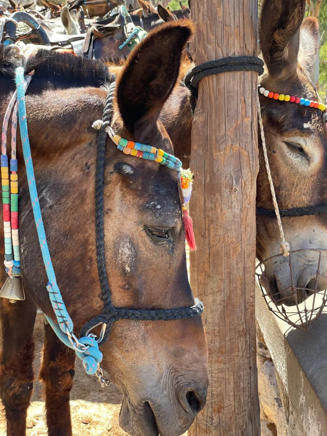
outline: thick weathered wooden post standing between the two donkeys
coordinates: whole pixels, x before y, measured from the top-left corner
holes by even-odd
[[[257,0],[192,0],[195,65],[257,55]],[[192,126],[191,216],[198,250],[191,285],[204,302],[209,347],[207,405],[194,435],[259,436],[255,363],[255,72],[202,79]]]

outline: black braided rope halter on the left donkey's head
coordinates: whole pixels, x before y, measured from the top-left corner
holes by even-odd
[[[114,79],[113,79],[114,80]],[[103,229],[103,179],[106,157],[106,128],[110,127],[112,120],[112,101],[116,82],[109,85],[105,108],[102,116],[102,126],[98,135],[98,146],[95,170],[95,244],[96,262],[98,266],[99,281],[102,293],[103,311],[100,315],[89,320],[81,328],[80,337],[98,324],[106,324],[106,330],[100,337],[99,345],[102,345],[109,337],[112,324],[117,320],[140,320],[140,321],[173,321],[185,318],[198,317],[203,312],[203,303],[195,299],[194,306],[181,307],[178,309],[124,309],[113,307],[111,292],[106,272],[106,257],[104,246]]]

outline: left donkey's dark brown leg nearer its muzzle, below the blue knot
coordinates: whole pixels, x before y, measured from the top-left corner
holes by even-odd
[[[75,351],[66,347],[49,324],[44,324],[40,378],[45,385],[48,436],[72,436],[69,392],[75,374]]]

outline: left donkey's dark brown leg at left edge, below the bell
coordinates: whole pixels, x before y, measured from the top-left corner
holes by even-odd
[[[33,390],[36,309],[29,299],[12,304],[0,298],[0,397],[6,412],[7,436],[25,435]]]

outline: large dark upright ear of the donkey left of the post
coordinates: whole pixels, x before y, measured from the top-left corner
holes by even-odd
[[[176,83],[181,55],[194,33],[190,20],[163,24],[129,55],[117,79],[120,114],[130,133],[146,134],[156,125]]]

